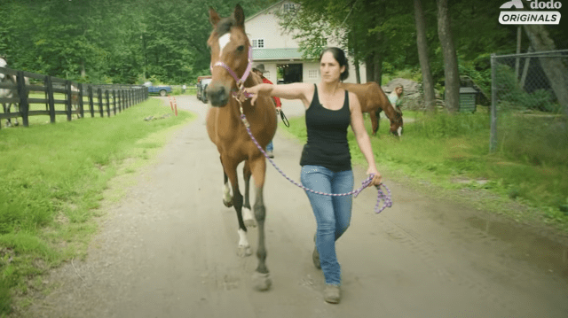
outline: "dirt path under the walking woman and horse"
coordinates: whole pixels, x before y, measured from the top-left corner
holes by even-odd
[[[107,213],[85,261],[55,270],[61,287],[29,317],[566,317],[566,248],[388,180],[394,206],[375,215],[375,193],[354,200],[337,244],[342,303],[321,297],[312,265],[315,221],[304,192],[267,173],[267,264],[272,290],[254,291],[256,256],[236,256],[237,222],[223,206],[222,170],[200,113]],[[291,117],[300,106],[288,106]],[[299,176],[301,144],[277,136],[278,165]],[[365,178],[355,168],[355,180]],[[507,235],[509,233],[510,235]],[[256,229],[248,231],[256,247]]]

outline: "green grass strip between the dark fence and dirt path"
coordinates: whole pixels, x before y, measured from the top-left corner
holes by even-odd
[[[34,277],[83,255],[108,182],[147,162],[164,132],[194,117],[144,120],[170,113],[151,98],[110,118],[0,130],[0,315],[11,294],[35,288]],[[125,159],[138,164],[122,167]]]

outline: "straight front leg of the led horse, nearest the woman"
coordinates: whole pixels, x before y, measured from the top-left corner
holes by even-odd
[[[255,179],[255,217],[258,223],[258,249],[256,257],[258,258],[258,266],[253,275],[253,283],[257,291],[267,291],[272,285],[270,272],[266,267],[266,246],[264,244],[264,220],[266,218],[266,208],[264,207],[264,175],[266,173],[266,161],[264,157],[258,157],[251,161],[252,176]]]

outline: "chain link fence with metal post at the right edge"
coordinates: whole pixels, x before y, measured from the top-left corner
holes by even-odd
[[[568,50],[493,55],[491,65],[490,151],[507,148],[537,164],[557,157],[542,152],[568,148]]]

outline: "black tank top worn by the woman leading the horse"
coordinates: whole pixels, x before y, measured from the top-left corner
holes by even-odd
[[[332,111],[319,103],[316,86],[312,104],[305,112],[308,142],[304,145],[300,165],[327,167],[334,172],[351,170],[351,153],[347,143],[347,128],[350,122],[351,110],[347,90],[343,107]]]

